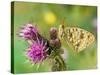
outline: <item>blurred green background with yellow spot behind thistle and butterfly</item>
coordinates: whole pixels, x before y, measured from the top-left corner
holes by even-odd
[[[14,2],[14,72],[48,72],[50,64],[45,61],[37,70],[37,65],[32,66],[27,62],[25,50],[27,41],[18,37],[20,27],[32,22],[37,24],[39,32],[49,39],[50,27],[59,27],[62,20],[65,26],[81,27],[95,35],[97,38],[97,7],[67,4],[47,4],[33,2]],[[79,54],[72,52],[66,42],[63,47],[67,50],[66,65],[68,70],[94,69],[97,67],[97,39],[95,42]]]

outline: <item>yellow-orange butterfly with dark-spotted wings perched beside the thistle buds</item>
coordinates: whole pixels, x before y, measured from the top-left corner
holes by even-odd
[[[95,41],[94,35],[89,31],[78,27],[65,27],[63,24],[59,26],[58,37],[67,41],[78,53]]]

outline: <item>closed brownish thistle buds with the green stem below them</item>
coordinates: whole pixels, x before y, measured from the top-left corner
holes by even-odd
[[[50,46],[53,49],[52,52],[52,71],[66,70],[66,64],[61,56],[61,42],[58,36],[58,30],[55,27],[50,29]]]

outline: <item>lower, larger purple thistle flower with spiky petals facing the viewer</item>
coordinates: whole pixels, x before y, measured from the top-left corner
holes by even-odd
[[[34,41],[34,43],[30,46],[29,50],[27,51],[28,58],[34,62],[38,63],[40,61],[43,61],[48,56],[47,51],[47,42],[44,43],[43,40],[37,39],[37,41]]]

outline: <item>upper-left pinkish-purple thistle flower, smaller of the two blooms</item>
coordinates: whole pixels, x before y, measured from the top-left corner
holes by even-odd
[[[37,35],[38,35],[38,30],[36,26],[32,24],[26,24],[26,26],[24,26],[21,29],[20,34],[19,34],[19,36],[21,36],[22,38],[33,39],[33,40],[37,38]]]

